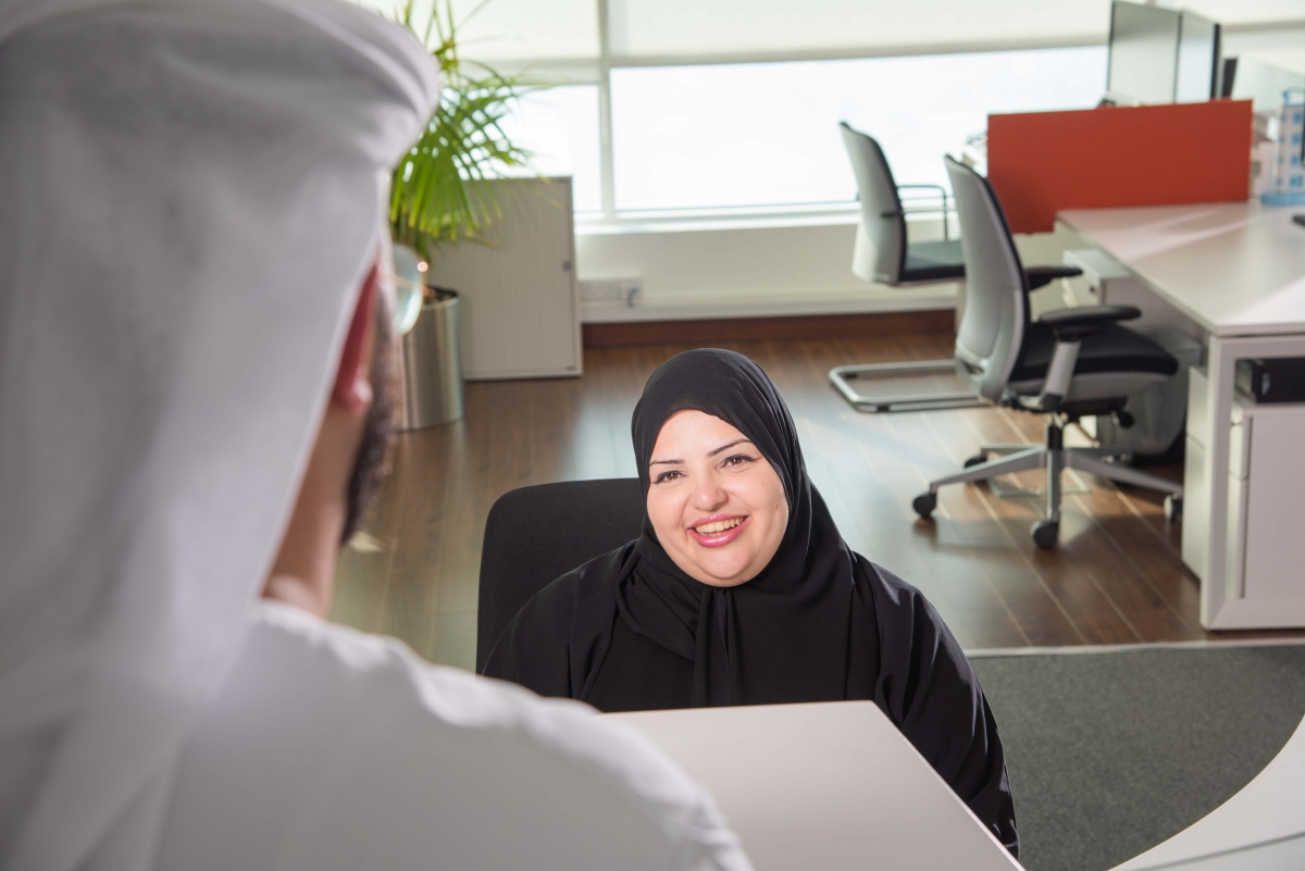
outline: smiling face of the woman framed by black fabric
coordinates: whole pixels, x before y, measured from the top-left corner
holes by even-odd
[[[672,415],[649,462],[649,519],[686,575],[736,587],[770,562],[788,525],[784,485],[737,429],[701,411]]]

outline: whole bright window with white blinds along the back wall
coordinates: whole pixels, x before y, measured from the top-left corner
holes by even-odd
[[[405,0],[358,1],[393,16]],[[418,0],[418,16],[445,1]],[[1250,48],[1300,3],[1184,5]],[[899,183],[946,184],[942,155],[989,112],[1086,108],[1105,90],[1107,0],[452,4],[463,59],[560,85],[506,126],[606,220],[847,203],[839,120],[880,140]]]

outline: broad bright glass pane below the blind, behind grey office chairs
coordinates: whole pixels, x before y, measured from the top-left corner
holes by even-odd
[[[616,207],[848,202],[840,120],[880,141],[898,184],[945,185],[942,155],[989,112],[1095,106],[1105,57],[1091,46],[613,69]]]

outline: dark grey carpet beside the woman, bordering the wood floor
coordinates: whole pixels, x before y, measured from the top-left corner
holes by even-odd
[[[1103,871],[1245,786],[1305,716],[1305,645],[975,657],[1021,861]]]

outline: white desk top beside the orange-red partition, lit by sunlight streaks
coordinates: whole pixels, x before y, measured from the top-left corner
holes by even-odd
[[[1210,332],[1305,332],[1305,207],[1070,209],[1057,218]]]

